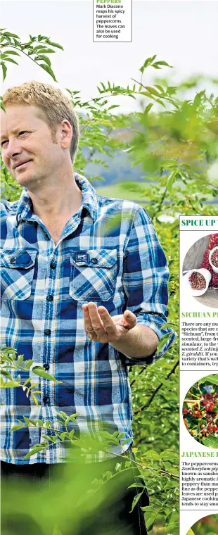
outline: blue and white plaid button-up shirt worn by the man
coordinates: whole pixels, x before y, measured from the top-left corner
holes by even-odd
[[[57,428],[61,410],[79,413],[78,425],[72,424],[77,432],[97,431],[101,422],[110,432],[124,432],[127,450],[133,441],[128,365],[155,362],[175,338],[172,329],[160,330],[167,322],[169,271],[146,210],[96,194],[76,173],[75,180],[82,206],[56,245],[33,213],[27,190],[19,201],[2,203],[1,346],[14,347],[61,381],[40,380],[39,406],[21,387],[2,391],[1,459],[7,462],[64,462],[60,444],[23,460],[40,443],[41,429],[9,432],[24,416],[50,420]],[[86,336],[82,304],[89,301],[105,306],[111,316],[128,308],[159,339],[167,332],[171,336],[159,355],[129,358]],[[27,379],[27,372],[21,377]],[[31,372],[30,377],[36,382]],[[106,456],[99,453],[98,460]]]

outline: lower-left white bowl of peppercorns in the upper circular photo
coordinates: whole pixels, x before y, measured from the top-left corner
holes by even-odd
[[[196,270],[189,270],[184,275],[186,288],[191,292],[193,297],[203,296],[210,284],[211,274],[209,270],[200,267]]]

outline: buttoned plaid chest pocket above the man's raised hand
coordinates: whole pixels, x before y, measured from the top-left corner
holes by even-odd
[[[72,253],[70,296],[77,301],[108,301],[115,293],[117,249]]]

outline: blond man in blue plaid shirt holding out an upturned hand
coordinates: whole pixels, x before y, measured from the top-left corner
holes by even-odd
[[[24,416],[56,427],[60,410],[79,413],[78,432],[108,425],[124,433],[124,446],[111,448],[111,456],[131,451],[128,366],[155,362],[175,334],[160,330],[168,268],[155,229],[136,203],[98,196],[74,172],[79,126],[68,99],[30,82],[8,89],[4,106],[2,158],[24,190],[2,207],[1,344],[61,381],[41,379],[38,407],[22,389],[8,389],[1,408],[3,473],[31,474],[64,462],[65,452],[53,444],[24,460],[41,440],[40,429],[9,432]],[[129,503],[126,517],[130,522]],[[141,517],[132,529],[146,534]]]

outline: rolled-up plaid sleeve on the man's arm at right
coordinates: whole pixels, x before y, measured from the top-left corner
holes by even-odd
[[[127,365],[148,365],[158,360],[172,345],[177,334],[167,323],[169,269],[167,258],[158,240],[148,213],[136,205],[127,244],[124,250],[123,287],[126,308],[162,339],[161,348],[146,359],[124,355]],[[165,338],[163,338],[165,336]]]

